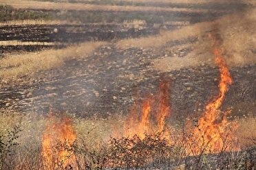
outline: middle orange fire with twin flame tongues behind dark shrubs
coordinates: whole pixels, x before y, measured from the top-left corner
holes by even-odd
[[[154,111],[155,101],[158,101],[158,111]],[[156,99],[149,97],[142,104],[141,114],[138,114],[138,104],[134,104],[131,113],[125,122],[125,136],[137,135],[140,138],[145,138],[145,134],[154,132],[164,132],[166,118],[170,114],[169,107],[169,82],[163,80],[160,82],[158,95]],[[156,123],[153,122],[156,118]],[[157,124],[157,125],[155,125]],[[167,134],[167,133],[164,133]]]

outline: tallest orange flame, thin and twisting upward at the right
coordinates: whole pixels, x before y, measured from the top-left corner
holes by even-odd
[[[220,111],[220,106],[222,106],[228,87],[233,83],[231,73],[228,71],[228,66],[222,53],[222,49],[215,43],[213,54],[215,56],[215,64],[220,71],[219,94],[206,105],[206,111],[198,121],[198,127],[193,130],[198,146],[206,147],[206,152],[211,153],[219,152],[223,149],[232,149],[232,146],[228,146],[228,143],[231,143],[234,138],[231,128],[233,130],[236,128],[234,123],[227,121],[229,112],[222,113]]]

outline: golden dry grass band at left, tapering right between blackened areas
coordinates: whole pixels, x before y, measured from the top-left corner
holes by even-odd
[[[85,58],[105,42],[85,42],[65,49],[9,55],[0,60],[0,77],[7,79],[61,66],[65,60]]]

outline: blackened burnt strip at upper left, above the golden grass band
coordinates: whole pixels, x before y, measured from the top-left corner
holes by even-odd
[[[123,25],[83,24],[83,25],[8,25],[0,26],[3,41],[46,42],[45,45],[1,45],[5,53],[12,51],[38,51],[43,48],[60,48],[72,43],[85,41],[111,41],[158,34],[159,29],[142,27],[127,28]],[[47,45],[53,42],[57,45]]]

